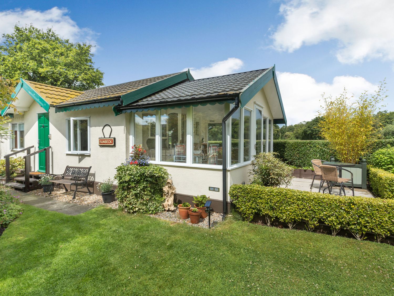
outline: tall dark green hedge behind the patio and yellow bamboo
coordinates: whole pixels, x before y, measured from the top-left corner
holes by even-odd
[[[371,152],[364,157],[368,161],[368,156],[380,148],[394,146],[394,139],[378,140],[372,144]],[[273,141],[273,151],[279,154],[289,165],[296,167],[311,167],[312,159],[329,160],[331,156],[336,157],[336,151],[330,147],[326,140],[275,140]]]

